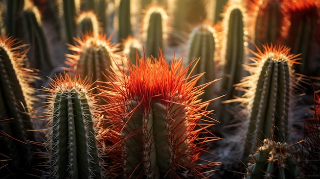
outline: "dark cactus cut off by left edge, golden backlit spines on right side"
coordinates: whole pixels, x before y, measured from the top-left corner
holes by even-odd
[[[26,50],[21,50],[12,37],[0,37],[0,171],[2,176],[22,174],[30,169],[34,160],[32,145],[35,141],[30,110],[35,98],[30,83],[32,70],[22,67]],[[8,171],[7,171],[8,170]]]

